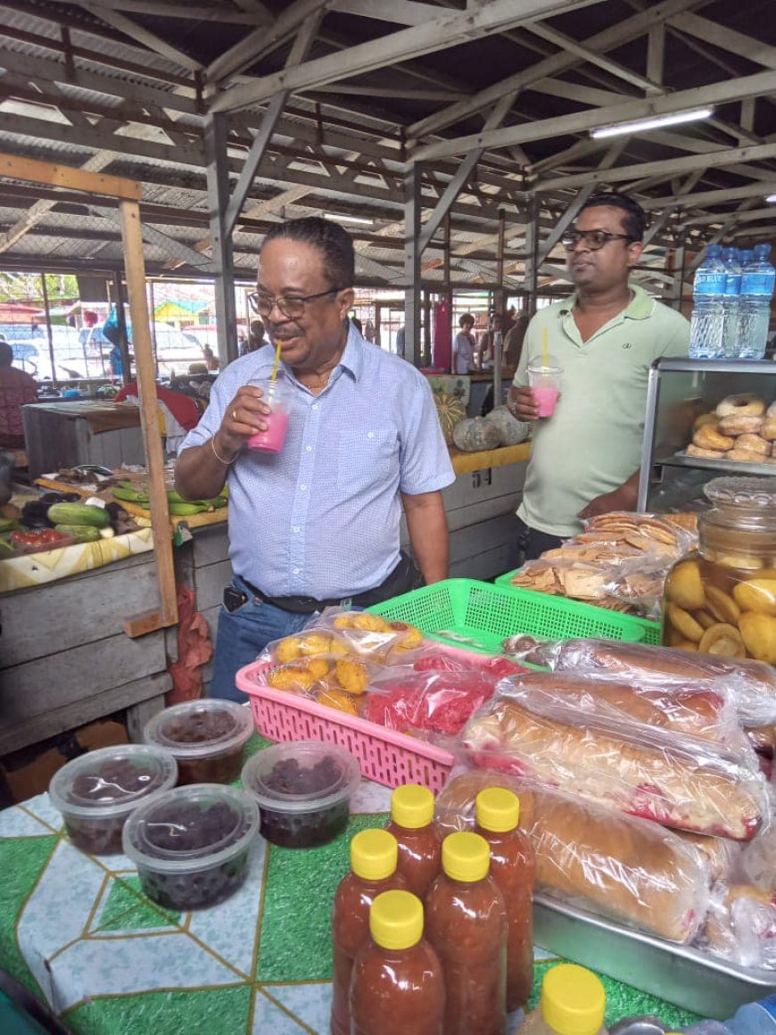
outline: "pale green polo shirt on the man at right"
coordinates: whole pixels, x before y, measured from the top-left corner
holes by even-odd
[[[577,513],[637,470],[650,366],[661,356],[687,355],[685,318],[643,288],[630,290],[628,307],[587,342],[574,322],[576,295],[539,309],[529,324],[514,385],[528,385],[529,363],[541,363],[545,327],[549,355],[563,367],[556,411],[534,425],[517,511],[538,531],[574,535],[581,528]]]

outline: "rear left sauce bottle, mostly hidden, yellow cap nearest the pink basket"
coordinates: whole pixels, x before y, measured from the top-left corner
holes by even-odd
[[[398,871],[407,887],[425,897],[442,865],[442,840],[434,829],[434,795],[419,783],[397,787],[391,795],[387,829],[398,841]]]

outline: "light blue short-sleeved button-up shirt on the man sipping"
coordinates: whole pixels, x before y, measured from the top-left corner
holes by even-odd
[[[237,390],[268,379],[273,358],[265,346],[223,371],[181,451],[218,431]],[[398,563],[399,492],[431,493],[455,479],[428,384],[352,324],[320,395],[282,363],[278,377],[291,394],[282,450],[245,448],[229,471],[232,567],[274,597],[374,589]]]

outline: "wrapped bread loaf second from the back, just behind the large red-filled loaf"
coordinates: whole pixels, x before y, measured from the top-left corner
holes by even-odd
[[[562,701],[579,711],[615,720],[635,719],[660,730],[718,743],[741,740],[735,709],[721,687],[640,686],[608,673],[532,672],[510,677],[502,686],[529,705]]]

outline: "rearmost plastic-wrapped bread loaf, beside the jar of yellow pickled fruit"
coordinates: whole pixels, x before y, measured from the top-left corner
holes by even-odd
[[[730,694],[743,726],[776,722],[776,671],[763,661],[613,640],[567,640],[547,645],[541,652],[556,672],[604,670],[639,685],[657,681],[663,686],[687,686],[717,680]]]

